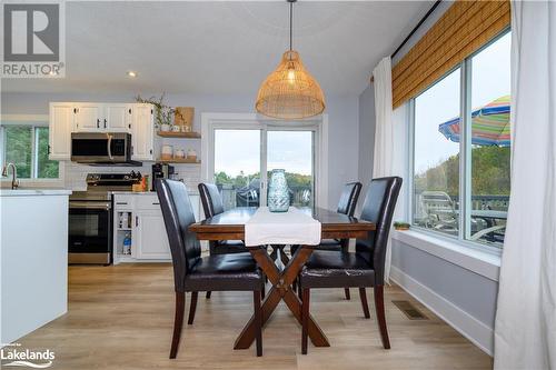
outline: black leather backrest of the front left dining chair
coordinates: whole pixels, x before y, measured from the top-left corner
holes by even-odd
[[[199,240],[189,231],[189,226],[195,223],[193,209],[183,182],[167,179],[157,181],[157,194],[172,254],[173,283],[176,291],[185,291],[186,276],[201,256]]]

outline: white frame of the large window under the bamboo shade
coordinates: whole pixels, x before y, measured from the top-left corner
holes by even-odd
[[[418,96],[411,98],[408,101],[409,104],[409,129],[408,129],[408,144],[409,144],[409,166],[408,166],[408,214],[411,223],[411,228],[423,232],[427,236],[438,238],[449,242],[457,242],[467,248],[473,248],[480,251],[486,251],[493,254],[502,256],[503,248],[490,246],[487,243],[481,243],[478,241],[473,241],[470,239],[471,232],[471,219],[467,217],[471,210],[471,76],[473,76],[473,58],[480,53],[483,50],[487,49],[489,46],[498,41],[500,38],[510,32],[510,28],[506,28],[504,31],[494,37],[490,41],[485,43],[480,49],[476,50],[474,53],[466,57],[460,63],[456,64],[445,74],[443,74],[439,79],[433,82],[427,89],[421,91]],[[414,224],[414,216],[415,216],[415,194],[414,194],[414,177],[415,177],[415,101],[423,93],[428,91],[436,83],[441,81],[448,74],[453,73],[455,70],[459,68],[459,116],[461,117],[463,130],[460,131],[460,140],[459,140],[459,220],[458,228],[459,232],[457,236],[449,236],[441,232],[435,232],[427,228],[423,228]]]

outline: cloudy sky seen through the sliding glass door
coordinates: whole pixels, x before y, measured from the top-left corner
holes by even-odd
[[[311,131],[268,131],[267,169],[312,173]],[[216,130],[215,173],[225,171],[235,177],[244,171],[260,171],[260,130]]]

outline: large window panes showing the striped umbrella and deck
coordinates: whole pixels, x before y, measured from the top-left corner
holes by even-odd
[[[414,99],[413,222],[502,248],[509,200],[510,34]]]

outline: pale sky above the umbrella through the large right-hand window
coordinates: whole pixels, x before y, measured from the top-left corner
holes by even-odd
[[[480,108],[510,91],[510,33],[473,57],[471,107]],[[457,69],[415,100],[415,171],[421,173],[459,151],[438,126],[459,116],[460,70]]]

